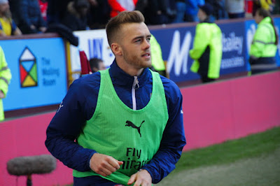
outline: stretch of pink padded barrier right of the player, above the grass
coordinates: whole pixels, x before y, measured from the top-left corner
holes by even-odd
[[[202,148],[280,126],[280,72],[187,87],[187,145]]]

